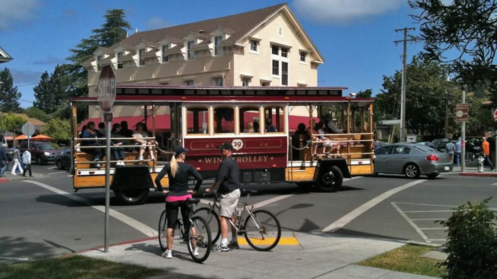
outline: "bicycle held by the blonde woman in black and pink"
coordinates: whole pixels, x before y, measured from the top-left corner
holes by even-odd
[[[187,243],[188,253],[193,261],[202,263],[209,257],[212,246],[212,235],[208,223],[200,216],[193,216],[193,205],[198,204],[200,199],[187,199],[188,220],[190,226],[184,231],[181,219],[177,219],[172,230],[178,229],[180,237]],[[159,244],[161,249],[166,251],[167,248],[167,210],[165,209],[159,219]],[[183,216],[184,218],[184,216]]]

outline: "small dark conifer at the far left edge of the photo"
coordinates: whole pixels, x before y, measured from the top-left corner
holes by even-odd
[[[3,83],[0,89],[0,111],[19,112],[21,110],[19,103],[21,93],[17,91],[17,86],[13,87],[14,80],[7,67],[0,72],[0,82]]]

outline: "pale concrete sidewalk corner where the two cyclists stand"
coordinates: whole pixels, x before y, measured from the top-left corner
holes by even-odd
[[[157,239],[95,249],[79,255],[164,270],[159,278],[333,278],[333,279],[428,279],[355,263],[406,244],[385,239],[351,237],[334,233],[283,232],[298,245],[278,245],[258,252],[248,245],[230,252],[211,252],[202,264],[193,262],[186,245],[175,240],[173,258],[161,257]]]

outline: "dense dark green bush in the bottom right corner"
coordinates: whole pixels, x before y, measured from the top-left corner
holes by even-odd
[[[468,202],[454,210],[447,221],[448,235],[444,252],[447,279],[497,278],[496,215],[488,208],[491,198],[473,205]]]

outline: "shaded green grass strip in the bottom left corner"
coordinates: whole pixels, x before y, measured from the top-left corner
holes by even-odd
[[[68,255],[0,266],[0,279],[140,279],[163,270]]]

